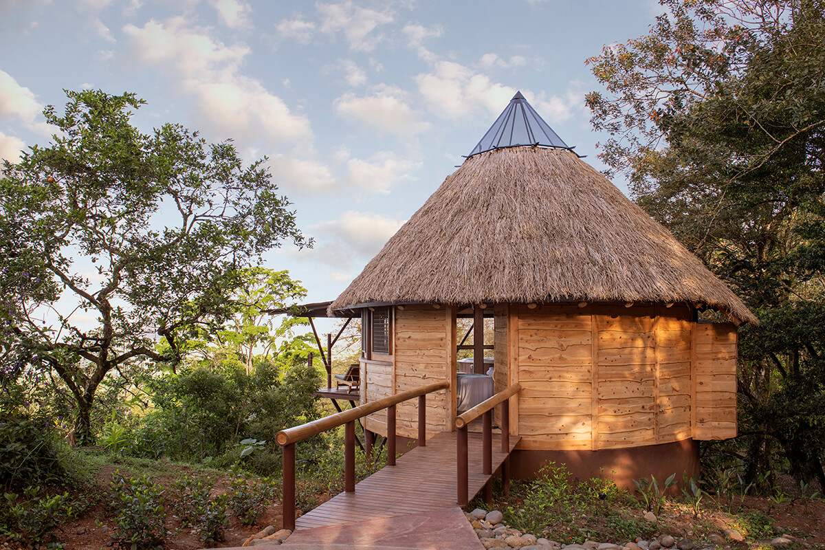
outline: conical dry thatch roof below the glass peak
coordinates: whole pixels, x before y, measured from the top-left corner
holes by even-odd
[[[563,149],[468,158],[330,310],[359,303],[688,302],[757,323],[667,229]]]

